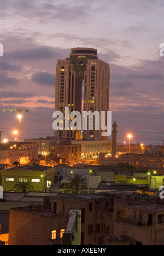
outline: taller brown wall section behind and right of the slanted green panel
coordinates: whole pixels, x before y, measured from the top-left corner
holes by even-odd
[[[107,199],[109,201],[110,199]],[[83,233],[84,241],[83,245],[89,245],[89,243],[101,243],[103,237],[107,237],[113,234],[113,212],[105,211],[106,200],[101,201],[101,199],[90,199],[90,200],[52,200],[52,207],[56,202],[56,213],[65,216],[69,213],[69,210],[81,210],[81,232]],[[98,205],[98,203],[100,203]],[[110,202],[109,202],[110,205]],[[52,211],[54,209],[52,208]],[[84,213],[85,212],[85,213]],[[96,231],[96,225],[99,224],[99,230]],[[109,226],[108,234],[104,233],[104,224]],[[92,232],[89,234],[89,225],[92,225]]]

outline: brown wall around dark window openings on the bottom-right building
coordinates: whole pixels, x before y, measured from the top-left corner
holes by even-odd
[[[124,211],[124,219],[118,219],[118,211]],[[148,224],[149,214],[152,214],[151,223]],[[114,235],[128,236],[133,240],[142,242],[143,245],[164,245],[164,224],[158,224],[157,216],[164,214],[164,211],[158,211],[157,208],[130,206],[130,202],[114,202]]]

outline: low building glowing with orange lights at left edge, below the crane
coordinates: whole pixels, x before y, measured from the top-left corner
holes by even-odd
[[[13,162],[21,165],[38,161],[38,144],[24,142],[8,142],[0,144],[0,163],[13,165]]]

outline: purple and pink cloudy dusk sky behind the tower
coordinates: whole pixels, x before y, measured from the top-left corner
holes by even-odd
[[[71,48],[97,48],[110,66],[110,110],[118,143],[164,139],[163,0],[1,0],[0,108],[28,109],[21,138],[53,136],[55,73]],[[16,112],[0,111],[2,139]]]

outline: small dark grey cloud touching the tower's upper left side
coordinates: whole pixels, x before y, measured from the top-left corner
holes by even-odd
[[[39,72],[32,76],[32,81],[42,85],[55,86],[55,74]]]

